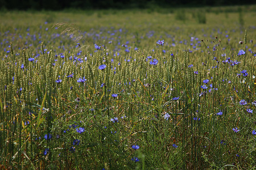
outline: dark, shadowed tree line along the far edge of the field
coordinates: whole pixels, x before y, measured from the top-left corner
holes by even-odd
[[[0,8],[8,10],[63,10],[79,9],[124,9],[154,7],[191,7],[191,6],[223,6],[250,5],[254,0],[0,0]]]

